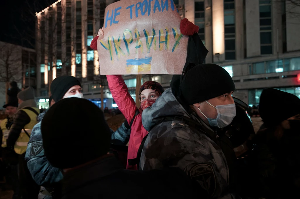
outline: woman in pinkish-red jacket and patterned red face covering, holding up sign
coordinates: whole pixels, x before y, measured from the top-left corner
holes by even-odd
[[[180,23],[180,31],[184,35],[193,35],[198,32],[198,30],[199,27],[193,25],[193,23],[189,22],[187,19],[183,19]],[[94,50],[97,50],[97,40],[99,35],[104,35],[103,28],[98,31],[97,37],[91,42],[91,48]],[[139,92],[141,107],[137,108],[133,98],[128,92],[128,88],[122,75],[107,75],[106,77],[110,92],[131,128],[126,168],[137,170],[137,164],[139,164],[139,162],[137,162],[139,159],[136,159],[137,153],[143,138],[148,134],[148,131],[142,124],[142,112],[147,107],[152,106],[155,100],[164,92],[164,88],[160,83],[155,81],[145,82],[141,86]],[[112,139],[116,139],[114,138],[114,134],[112,135]]]

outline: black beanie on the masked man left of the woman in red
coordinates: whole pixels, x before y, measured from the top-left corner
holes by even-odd
[[[64,94],[72,87],[72,86],[81,86],[80,81],[73,76],[59,76],[55,78],[50,86],[50,91],[52,98],[55,102],[58,102],[64,97]]]

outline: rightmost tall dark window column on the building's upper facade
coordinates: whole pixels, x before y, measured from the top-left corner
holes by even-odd
[[[271,1],[259,0],[260,54],[272,54]]]

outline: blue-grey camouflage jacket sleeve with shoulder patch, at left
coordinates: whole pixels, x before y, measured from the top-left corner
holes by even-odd
[[[25,161],[32,178],[41,186],[50,186],[50,184],[59,182],[63,178],[61,170],[53,167],[44,155],[41,121],[32,129]]]

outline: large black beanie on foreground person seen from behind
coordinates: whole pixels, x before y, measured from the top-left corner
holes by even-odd
[[[104,113],[91,101],[65,98],[46,112],[41,133],[45,156],[57,168],[73,168],[109,151],[111,133]]]

